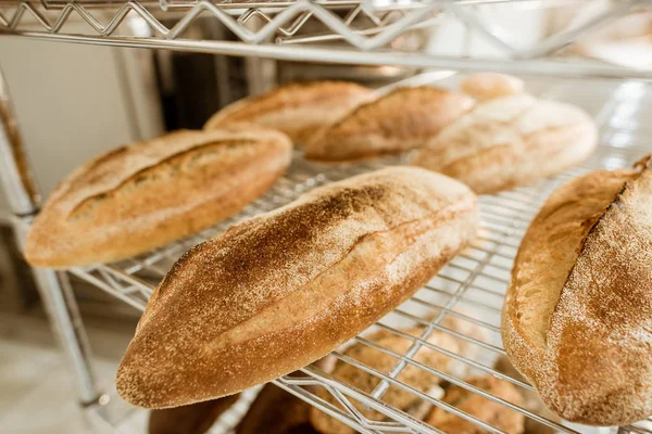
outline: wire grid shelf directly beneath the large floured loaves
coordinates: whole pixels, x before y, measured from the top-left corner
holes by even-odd
[[[504,360],[505,356],[500,339],[500,311],[521,238],[542,202],[563,182],[591,169],[629,166],[650,152],[647,139],[652,135],[652,127],[647,124],[647,119],[652,115],[652,85],[597,81],[584,87],[573,84],[550,87],[549,84],[532,82],[529,88],[543,90],[539,92],[543,98],[563,99],[580,105],[597,119],[601,144],[590,159],[582,167],[535,186],[481,196],[481,229],[477,240],[443,267],[410,301],[368,331],[331,353],[329,358],[336,367],[348,365],[360,374],[374,376],[376,381],[373,388],[360,388],[339,378],[337,373],[314,365],[303,368],[301,376],[276,380],[276,385],[362,433],[442,432],[413,416],[409,409],[396,407],[386,400],[392,391],[394,394],[397,391],[408,394],[413,405],[440,408],[486,432],[503,432],[459,409],[455,403],[447,401],[446,396],[442,398],[442,385],[456,386],[469,396],[479,396],[485,403],[498,404],[503,407],[503,411],[525,419],[527,424],[534,424],[539,430],[548,429],[547,432],[551,433],[652,433],[652,420],[611,430],[562,423],[541,408],[534,409],[523,403],[505,400],[469,382],[472,376],[491,375],[500,380],[501,384],[509,384],[526,396],[534,396],[534,388],[524,379],[497,368],[497,361]],[[73,268],[70,272],[142,310],[170,266],[192,245],[215,237],[235,221],[287,204],[312,188],[397,163],[400,161],[327,166],[308,163],[297,155],[287,175],[272,191],[238,216],[145,255],[117,264]],[[451,328],[450,322],[447,322],[451,318],[463,327]],[[393,347],[380,345],[374,339],[376,332],[404,340],[404,350],[397,352]],[[460,348],[465,346],[473,350],[447,349],[432,343],[432,335],[450,336],[460,343]],[[391,369],[380,371],[373,363],[352,357],[348,349],[354,346],[368,348],[377,358],[390,357]],[[424,352],[435,352],[450,360],[446,368],[428,366],[419,358]],[[425,373],[432,387],[425,390],[421,384],[403,381],[401,374],[408,369]],[[234,422],[242,416],[247,404],[252,399],[250,395],[243,398],[246,404],[239,404],[237,417],[227,416],[228,420]],[[218,432],[229,432],[233,423],[220,426]]]

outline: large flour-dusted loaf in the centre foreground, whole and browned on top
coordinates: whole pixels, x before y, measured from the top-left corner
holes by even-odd
[[[476,219],[461,182],[396,166],[235,225],[154,291],[117,390],[174,407],[304,367],[412,295],[475,235]]]

